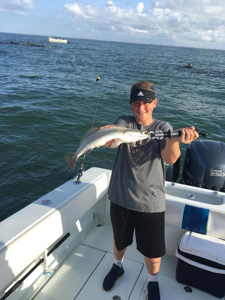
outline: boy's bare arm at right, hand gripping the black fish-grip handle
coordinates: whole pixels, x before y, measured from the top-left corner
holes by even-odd
[[[179,143],[189,144],[198,138],[198,134],[194,129],[194,126],[180,128],[176,130],[181,131],[180,137],[167,138],[166,147],[161,151],[161,156],[164,162],[168,164],[175,163],[181,154]]]

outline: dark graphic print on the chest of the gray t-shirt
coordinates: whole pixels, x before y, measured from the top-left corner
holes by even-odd
[[[143,140],[136,143],[128,143],[127,151],[135,166],[141,165],[148,158],[154,158],[154,150],[159,145],[158,140]]]

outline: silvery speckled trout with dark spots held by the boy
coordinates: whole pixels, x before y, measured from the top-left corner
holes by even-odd
[[[115,139],[112,148],[116,148],[121,143],[133,143],[146,138],[150,138],[147,131],[118,127],[115,125],[103,128],[90,128],[80,141],[78,150],[73,154],[67,155],[65,160],[73,171],[78,158],[82,154],[88,154],[93,148],[103,146],[110,140]]]

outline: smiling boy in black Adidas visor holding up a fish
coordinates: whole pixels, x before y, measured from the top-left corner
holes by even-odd
[[[168,122],[152,118],[157,98],[153,83],[140,81],[131,88],[133,116],[120,116],[114,125],[149,131],[173,131]],[[108,125],[106,125],[108,126]],[[179,143],[191,143],[198,137],[194,127],[181,128],[180,137],[145,139],[135,144],[121,144],[117,150],[109,183],[108,198],[113,226],[114,263],[103,281],[111,291],[123,273],[123,257],[133,242],[135,228],[137,250],[144,255],[148,270],[148,299],[159,300],[158,272],[165,255],[165,167],[180,156]],[[103,147],[112,147],[108,141]]]

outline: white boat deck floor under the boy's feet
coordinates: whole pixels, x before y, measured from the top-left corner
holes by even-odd
[[[128,247],[123,261],[124,275],[115,288],[106,292],[102,288],[105,275],[113,264],[113,231],[110,223],[95,227],[83,244],[64,265],[49,278],[35,300],[111,300],[118,295],[121,300],[146,300],[147,270],[143,256],[136,250],[136,242]],[[192,287],[192,293],[183,291],[184,284],[175,279],[177,258],[165,255],[159,275],[161,300],[213,300],[216,297]]]

